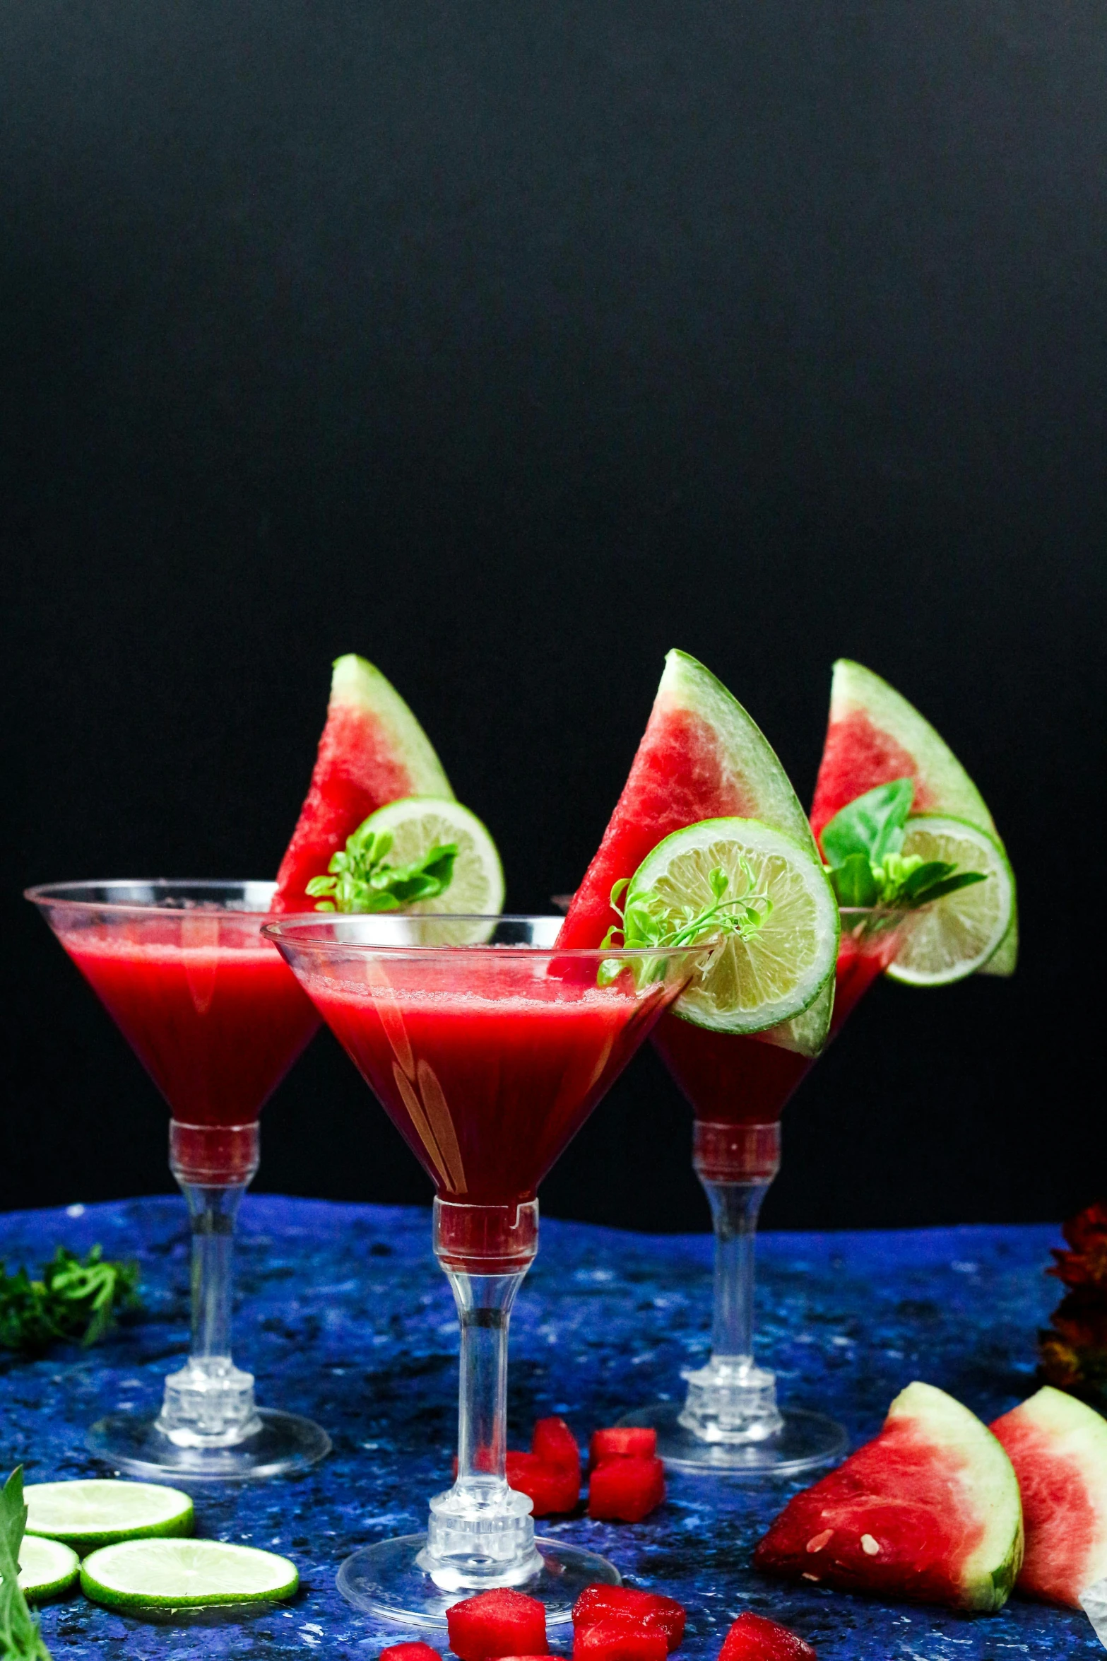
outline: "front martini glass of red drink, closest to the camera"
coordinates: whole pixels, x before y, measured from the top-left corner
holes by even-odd
[[[458,1475],[427,1533],[347,1558],[360,1610],[445,1626],[458,1598],[514,1586],[561,1623],[619,1575],[536,1540],[505,1478],[508,1319],[538,1251],[536,1189],[710,948],[566,952],[558,917],[267,924],[319,1013],[435,1183],[433,1246],[461,1325]],[[601,973],[601,965],[604,973]]]

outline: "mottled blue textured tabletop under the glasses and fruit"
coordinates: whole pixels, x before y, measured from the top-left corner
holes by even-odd
[[[911,1379],[991,1418],[1032,1389],[1034,1332],[1056,1301],[1042,1279],[1054,1239],[1051,1227],[765,1236],[760,1354],[790,1404],[835,1414],[855,1443]],[[156,1405],[163,1374],[186,1350],[181,1201],[0,1218],[8,1262],[38,1264],[60,1241],[139,1257],[146,1314],[88,1352],[33,1364],[0,1352],[0,1465],[22,1460],[40,1482],[103,1475],[83,1452],[85,1427],[119,1402]],[[707,1354],[709,1264],[707,1236],[544,1222],[513,1320],[513,1445],[526,1445],[538,1414],[564,1414],[583,1437],[674,1392],[680,1367]],[[355,1546],[422,1528],[428,1495],[448,1482],[456,1329],[428,1213],[247,1198],[237,1289],[236,1355],[256,1372],[259,1400],[317,1418],[335,1452],[299,1482],[196,1490],[198,1528],[287,1553],[302,1591],[254,1621],[191,1626],[123,1619],[78,1596],[43,1611],[55,1656],[372,1658],[402,1636],[350,1611],[334,1576]],[[689,1661],[714,1658],[747,1606],[788,1621],[820,1661],[1102,1658],[1077,1613],[1012,1600],[1001,1614],[963,1618],[755,1575],[752,1546],[795,1487],[677,1477],[646,1523],[581,1518],[543,1531],[588,1543],[637,1585],[680,1598]],[[564,1628],[554,1648],[568,1648]]]

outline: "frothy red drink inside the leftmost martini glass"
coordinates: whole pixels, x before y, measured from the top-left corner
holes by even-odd
[[[61,928],[61,943],[183,1126],[256,1124],[319,1026],[280,953],[261,938],[264,915],[186,912],[133,927]],[[211,1166],[234,1181],[252,1139],[198,1136]],[[242,1141],[242,1149],[236,1146]],[[214,1143],[214,1148],[212,1148]],[[189,1136],[174,1154],[189,1163]]]

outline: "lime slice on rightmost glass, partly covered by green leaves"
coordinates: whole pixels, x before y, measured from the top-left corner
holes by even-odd
[[[988,880],[958,889],[908,919],[886,973],[908,987],[964,980],[988,963],[1011,927],[1014,877],[1007,855],[988,830],[944,814],[908,819],[903,852],[946,859],[958,870],[983,870]]]

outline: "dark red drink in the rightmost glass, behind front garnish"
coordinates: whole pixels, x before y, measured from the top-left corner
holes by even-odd
[[[835,972],[831,1036],[895,957],[896,930],[843,932]],[[666,1015],[654,1045],[697,1120],[710,1124],[773,1124],[815,1065],[813,1056],[758,1038],[714,1033]]]

